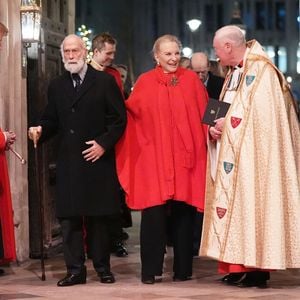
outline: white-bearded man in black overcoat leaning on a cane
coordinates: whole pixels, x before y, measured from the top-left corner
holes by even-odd
[[[110,271],[110,216],[120,211],[114,145],[126,126],[123,97],[114,78],[86,64],[84,42],[67,36],[61,45],[67,72],[48,89],[48,104],[29,138],[60,135],[56,214],[63,235],[67,275],[58,286],[86,283],[83,222],[88,253],[102,283]]]

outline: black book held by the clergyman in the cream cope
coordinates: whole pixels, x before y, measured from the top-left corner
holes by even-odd
[[[229,109],[230,103],[219,101],[217,99],[209,98],[202,123],[208,124],[210,126],[215,125],[215,120],[223,118]]]

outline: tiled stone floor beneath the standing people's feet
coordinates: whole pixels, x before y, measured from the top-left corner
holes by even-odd
[[[56,282],[65,274],[61,256],[47,259],[46,281],[41,281],[40,263],[30,260],[21,266],[6,268],[7,275],[0,277],[0,300],[10,299],[66,299],[66,300],[231,300],[263,299],[282,300],[300,299],[300,272],[297,270],[274,272],[268,289],[241,289],[225,286],[218,281],[216,262],[205,258],[195,258],[193,280],[186,282],[172,281],[172,251],[169,248],[165,260],[165,272],[162,281],[154,285],[140,282],[139,215],[134,213],[134,226],[128,230],[129,256],[112,257],[112,271],[117,282],[111,285],[101,284],[87,262],[88,281],[85,285],[59,288]]]

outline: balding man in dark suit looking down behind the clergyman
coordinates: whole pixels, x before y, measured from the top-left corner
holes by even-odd
[[[191,67],[205,85],[209,97],[219,99],[224,78],[213,75],[209,71],[210,62],[208,56],[203,52],[195,52],[191,58]]]

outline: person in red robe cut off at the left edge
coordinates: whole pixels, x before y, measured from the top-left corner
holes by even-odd
[[[0,22],[0,49],[3,37],[8,33],[7,27]],[[5,157],[5,150],[16,140],[12,131],[0,129],[0,264],[8,263],[16,259],[13,208],[10,194],[8,169]],[[0,275],[4,270],[0,269]]]

